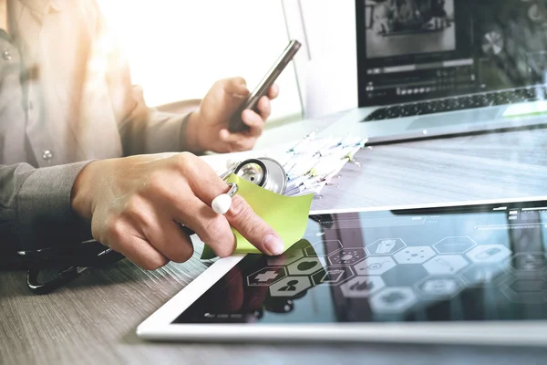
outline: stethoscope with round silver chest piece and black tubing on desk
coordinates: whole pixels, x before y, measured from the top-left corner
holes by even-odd
[[[220,176],[222,180],[226,181],[232,173],[274,193],[283,195],[286,190],[287,174],[283,166],[268,157],[231,162],[228,170]],[[230,189],[227,193],[222,193],[212,201],[212,209],[219,214],[228,211],[232,203],[232,196],[239,189],[236,183],[228,183],[228,186]],[[193,232],[191,233],[193,234]],[[74,280],[90,267],[108,266],[125,258],[95,240],[82,242],[78,245],[20,251],[17,254],[30,264],[26,274],[26,287],[35,294],[51,293],[58,287]],[[40,274],[52,268],[58,270],[57,276],[41,281]]]

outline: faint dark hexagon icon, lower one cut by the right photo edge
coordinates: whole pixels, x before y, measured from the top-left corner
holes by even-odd
[[[513,303],[547,303],[547,281],[541,276],[513,277],[500,285],[501,292]]]

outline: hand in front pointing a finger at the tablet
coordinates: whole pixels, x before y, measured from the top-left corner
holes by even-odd
[[[235,249],[231,226],[264,254],[282,254],[279,236],[241,195],[226,214],[214,213],[212,200],[228,189],[191,153],[140,155],[90,162],[77,176],[71,206],[91,220],[93,238],[148,270],[191,258],[181,224],[221,257]]]

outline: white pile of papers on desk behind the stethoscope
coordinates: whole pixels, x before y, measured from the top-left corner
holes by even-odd
[[[355,136],[346,138],[315,138],[312,132],[294,146],[284,146],[274,151],[245,151],[224,155],[204,156],[212,168],[221,174],[235,162],[250,158],[270,157],[283,165],[287,174],[284,195],[298,196],[320,193],[326,184],[352,161],[357,151],[365,147],[366,139]]]

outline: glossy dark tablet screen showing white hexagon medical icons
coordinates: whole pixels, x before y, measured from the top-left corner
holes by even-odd
[[[246,255],[174,323],[545,319],[546,233],[541,203],[315,215],[284,255]]]

